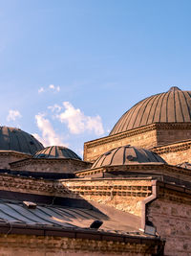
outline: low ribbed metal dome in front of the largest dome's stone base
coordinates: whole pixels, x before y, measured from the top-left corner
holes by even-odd
[[[156,152],[127,145],[103,153],[98,157],[92,168],[148,162],[165,163],[165,161]]]

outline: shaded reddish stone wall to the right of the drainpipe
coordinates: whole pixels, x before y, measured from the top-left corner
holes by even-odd
[[[148,205],[147,216],[166,239],[165,255],[191,255],[191,198],[173,197],[172,193],[158,198]]]

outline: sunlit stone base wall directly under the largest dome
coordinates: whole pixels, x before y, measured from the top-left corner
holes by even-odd
[[[84,160],[94,162],[102,153],[128,144],[151,149],[190,138],[191,124],[156,123],[86,142],[84,144]]]

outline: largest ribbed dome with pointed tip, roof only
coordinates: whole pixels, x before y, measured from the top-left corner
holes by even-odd
[[[125,112],[110,135],[153,123],[191,122],[191,91],[171,87],[148,97]]]

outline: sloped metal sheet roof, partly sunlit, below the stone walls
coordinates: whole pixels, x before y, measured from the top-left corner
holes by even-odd
[[[123,234],[139,232],[139,217],[105,207],[109,208],[106,210],[107,214],[99,210],[55,205],[37,205],[36,208],[30,209],[20,201],[0,199],[0,224],[6,222],[36,227],[41,225],[83,229],[90,228],[93,221],[99,220],[103,221],[100,227],[102,231]],[[123,219],[126,221],[121,221]]]

